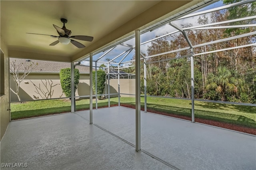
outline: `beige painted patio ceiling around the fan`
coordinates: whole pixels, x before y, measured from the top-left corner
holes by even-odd
[[[0,1],[0,33],[8,48],[9,57],[50,61],[78,61],[84,55],[131,34],[136,29],[154,24],[163,17],[180,12],[198,2],[183,1]],[[180,8],[181,7],[181,8]],[[93,36],[92,42],[77,40],[86,47],[79,49],[72,43],[49,44],[58,36],[52,26],[66,28],[74,35]]]

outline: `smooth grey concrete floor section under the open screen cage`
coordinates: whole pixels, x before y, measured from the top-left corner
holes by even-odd
[[[89,111],[78,115],[89,119]],[[93,123],[135,144],[135,110],[93,110]],[[184,170],[255,170],[256,137],[141,112],[141,147]]]

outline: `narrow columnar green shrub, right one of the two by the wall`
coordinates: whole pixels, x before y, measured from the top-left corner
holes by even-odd
[[[95,71],[92,72],[92,89],[94,93],[96,93],[96,81],[95,81]],[[104,92],[106,83],[106,73],[104,70],[100,69],[97,70],[97,95],[102,95]],[[98,99],[100,99],[101,96],[98,96]]]

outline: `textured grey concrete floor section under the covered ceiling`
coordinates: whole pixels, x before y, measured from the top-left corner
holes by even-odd
[[[8,170],[170,169],[74,113],[11,122],[0,151]]]

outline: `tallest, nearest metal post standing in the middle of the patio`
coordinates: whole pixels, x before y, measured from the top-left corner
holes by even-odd
[[[140,151],[140,30],[135,30],[136,151]]]

